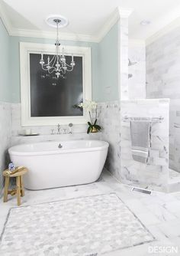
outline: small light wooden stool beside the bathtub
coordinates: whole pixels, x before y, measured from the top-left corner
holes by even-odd
[[[24,185],[23,185],[23,176],[26,174],[27,169],[21,168],[20,171],[15,172],[13,174],[8,173],[8,169],[3,172],[3,176],[5,176],[5,191],[4,191],[4,202],[8,202],[8,194],[15,195],[17,194],[18,205],[21,205],[21,196],[24,196]],[[16,189],[8,190],[9,179],[16,178]]]

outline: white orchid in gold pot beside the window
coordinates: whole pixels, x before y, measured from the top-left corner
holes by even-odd
[[[97,133],[101,130],[101,126],[97,124],[97,103],[95,101],[85,100],[85,102],[80,103],[78,107],[89,114],[90,122],[88,122],[87,133]],[[94,114],[95,118],[93,118]]]

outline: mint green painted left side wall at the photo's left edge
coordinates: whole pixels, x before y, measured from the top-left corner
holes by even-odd
[[[0,18],[0,101],[11,101],[8,78],[9,70],[9,35]]]

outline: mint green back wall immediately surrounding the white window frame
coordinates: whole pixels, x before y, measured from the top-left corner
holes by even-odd
[[[33,42],[40,44],[54,44],[54,40],[43,38],[10,38],[11,54],[11,102],[20,102],[20,65],[19,65],[19,42]],[[80,41],[61,41],[61,44],[86,46],[92,48],[92,98],[97,100],[98,94],[98,44]]]

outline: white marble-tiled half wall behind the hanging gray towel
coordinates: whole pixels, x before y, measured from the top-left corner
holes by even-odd
[[[130,122],[124,117],[163,117],[152,124],[149,164],[133,160]],[[121,101],[121,181],[145,189],[168,192],[169,182],[169,100]]]

